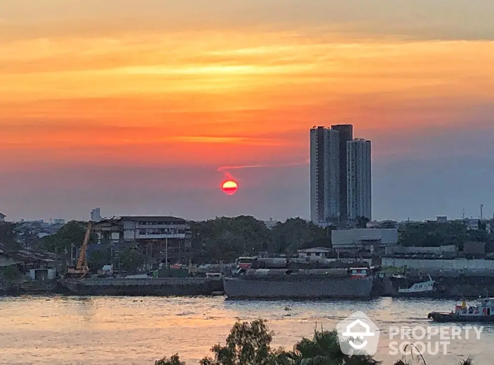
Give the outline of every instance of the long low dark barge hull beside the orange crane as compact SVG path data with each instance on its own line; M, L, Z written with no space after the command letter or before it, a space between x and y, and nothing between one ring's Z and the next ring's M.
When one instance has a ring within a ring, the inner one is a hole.
M75 295L196 296L223 291L217 278L88 278L64 282Z

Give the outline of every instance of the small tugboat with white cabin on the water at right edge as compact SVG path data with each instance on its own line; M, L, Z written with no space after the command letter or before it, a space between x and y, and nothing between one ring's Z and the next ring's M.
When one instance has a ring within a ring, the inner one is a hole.
M427 316L434 322L494 322L494 298L483 299L477 305L467 307L465 300L456 305L454 312L431 312Z

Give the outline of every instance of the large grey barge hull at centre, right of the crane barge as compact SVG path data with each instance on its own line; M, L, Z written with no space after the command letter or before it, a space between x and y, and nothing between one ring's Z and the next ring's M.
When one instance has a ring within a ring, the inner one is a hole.
M223 286L229 299L367 299L373 278L224 278Z

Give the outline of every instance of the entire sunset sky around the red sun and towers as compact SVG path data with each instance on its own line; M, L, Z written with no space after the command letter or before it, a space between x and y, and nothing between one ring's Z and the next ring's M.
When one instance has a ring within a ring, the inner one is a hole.
M491 216L493 13L491 0L2 0L0 211L308 218L309 129L352 123L372 141L374 219L477 217L480 203Z

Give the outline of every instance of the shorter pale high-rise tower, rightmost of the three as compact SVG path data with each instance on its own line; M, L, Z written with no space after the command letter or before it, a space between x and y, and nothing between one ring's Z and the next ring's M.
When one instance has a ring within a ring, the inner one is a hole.
M348 218L372 220L371 141L347 142L347 210Z

